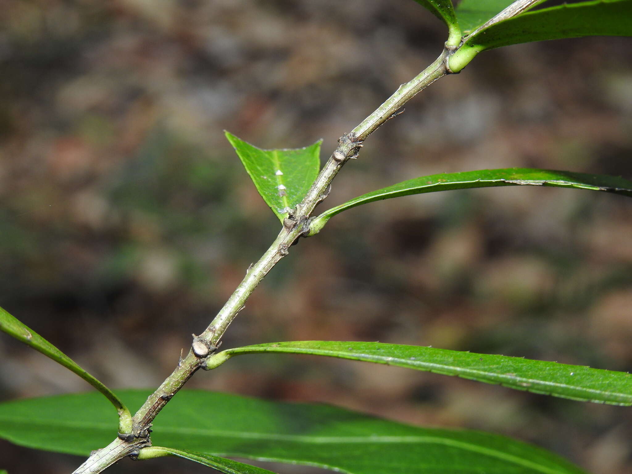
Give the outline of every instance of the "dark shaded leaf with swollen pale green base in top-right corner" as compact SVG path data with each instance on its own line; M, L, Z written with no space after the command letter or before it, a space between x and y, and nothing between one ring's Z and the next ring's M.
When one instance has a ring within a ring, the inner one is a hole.
M530 11L470 35L449 59L458 72L481 51L582 36L632 36L632 0L595 0Z

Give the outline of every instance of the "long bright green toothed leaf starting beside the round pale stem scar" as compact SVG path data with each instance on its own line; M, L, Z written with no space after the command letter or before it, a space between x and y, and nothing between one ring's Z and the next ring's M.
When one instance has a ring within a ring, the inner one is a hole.
M475 354L424 346L340 341L296 341L228 349L210 367L238 354L291 353L338 357L414 368L512 389L579 401L632 405L632 375L520 357Z

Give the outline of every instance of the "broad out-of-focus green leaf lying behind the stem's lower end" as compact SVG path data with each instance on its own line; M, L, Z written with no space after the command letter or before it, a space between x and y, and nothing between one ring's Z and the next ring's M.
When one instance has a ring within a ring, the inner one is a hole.
M130 406L140 406L149 394L119 392ZM0 437L85 456L112 441L109 415L95 394L11 401L0 404ZM179 391L152 428L159 446L348 474L584 473L544 449L499 435L419 428L322 404L205 391Z

